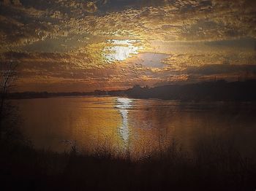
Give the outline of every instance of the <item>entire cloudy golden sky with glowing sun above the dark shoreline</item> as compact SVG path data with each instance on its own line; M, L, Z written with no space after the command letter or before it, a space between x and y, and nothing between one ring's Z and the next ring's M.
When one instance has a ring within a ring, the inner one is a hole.
M16 91L256 78L254 0L1 0Z

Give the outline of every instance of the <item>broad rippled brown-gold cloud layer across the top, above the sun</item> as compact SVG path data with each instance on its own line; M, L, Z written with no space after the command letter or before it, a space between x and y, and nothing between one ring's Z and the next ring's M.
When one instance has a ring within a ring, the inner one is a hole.
M32 43L45 39L45 36L61 36L62 31L69 34L132 37L144 41L209 41L241 36L255 37L254 9L249 1L242 2L233 1L230 7L227 7L227 3L222 1L162 1L160 4L150 1L143 3L143 7L133 6L121 12L108 12L102 15L102 9L107 6L102 1L39 1L37 4L31 3L31 7L28 7L29 4L19 9L9 7L4 17L12 18L24 25L20 31L22 35L15 35L17 37L14 39L17 40L12 47L21 45L24 41L22 39ZM115 3L121 4L120 7L126 7L121 2L108 2L111 5ZM140 3L133 1L131 4ZM150 6L153 4L157 6ZM101 8L97 8L98 6ZM239 9L240 6L244 9ZM42 12L42 9L45 11ZM95 12L99 12L99 15L88 15ZM20 18L17 19L13 15L20 15ZM34 24L36 21L37 25ZM40 33L33 34L31 29ZM8 29L4 34L10 36L13 31Z

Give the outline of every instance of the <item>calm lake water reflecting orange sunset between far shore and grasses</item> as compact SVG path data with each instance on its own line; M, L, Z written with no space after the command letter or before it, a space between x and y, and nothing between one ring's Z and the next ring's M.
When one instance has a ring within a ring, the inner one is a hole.
M182 103L116 97L16 100L23 133L37 149L64 152L76 141L80 150L129 149L147 155L175 139L188 151L202 139L218 137L254 152L255 104Z

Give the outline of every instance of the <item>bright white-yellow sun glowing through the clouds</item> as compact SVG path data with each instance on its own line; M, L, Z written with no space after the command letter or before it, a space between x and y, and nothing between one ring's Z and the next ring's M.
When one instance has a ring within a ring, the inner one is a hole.
M109 44L103 50L104 58L110 63L115 61L124 61L132 55L137 55L139 50L143 49L139 40L132 39L110 39L107 40Z

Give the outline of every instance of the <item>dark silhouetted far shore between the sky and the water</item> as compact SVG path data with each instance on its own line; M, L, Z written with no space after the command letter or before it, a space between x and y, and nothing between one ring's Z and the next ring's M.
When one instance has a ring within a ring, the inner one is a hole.
M256 80L244 82L201 82L188 85L165 85L140 87L127 90L95 90L94 92L22 92L9 93L9 99L53 98L61 96L124 96L129 98L159 98L180 101L256 101Z

